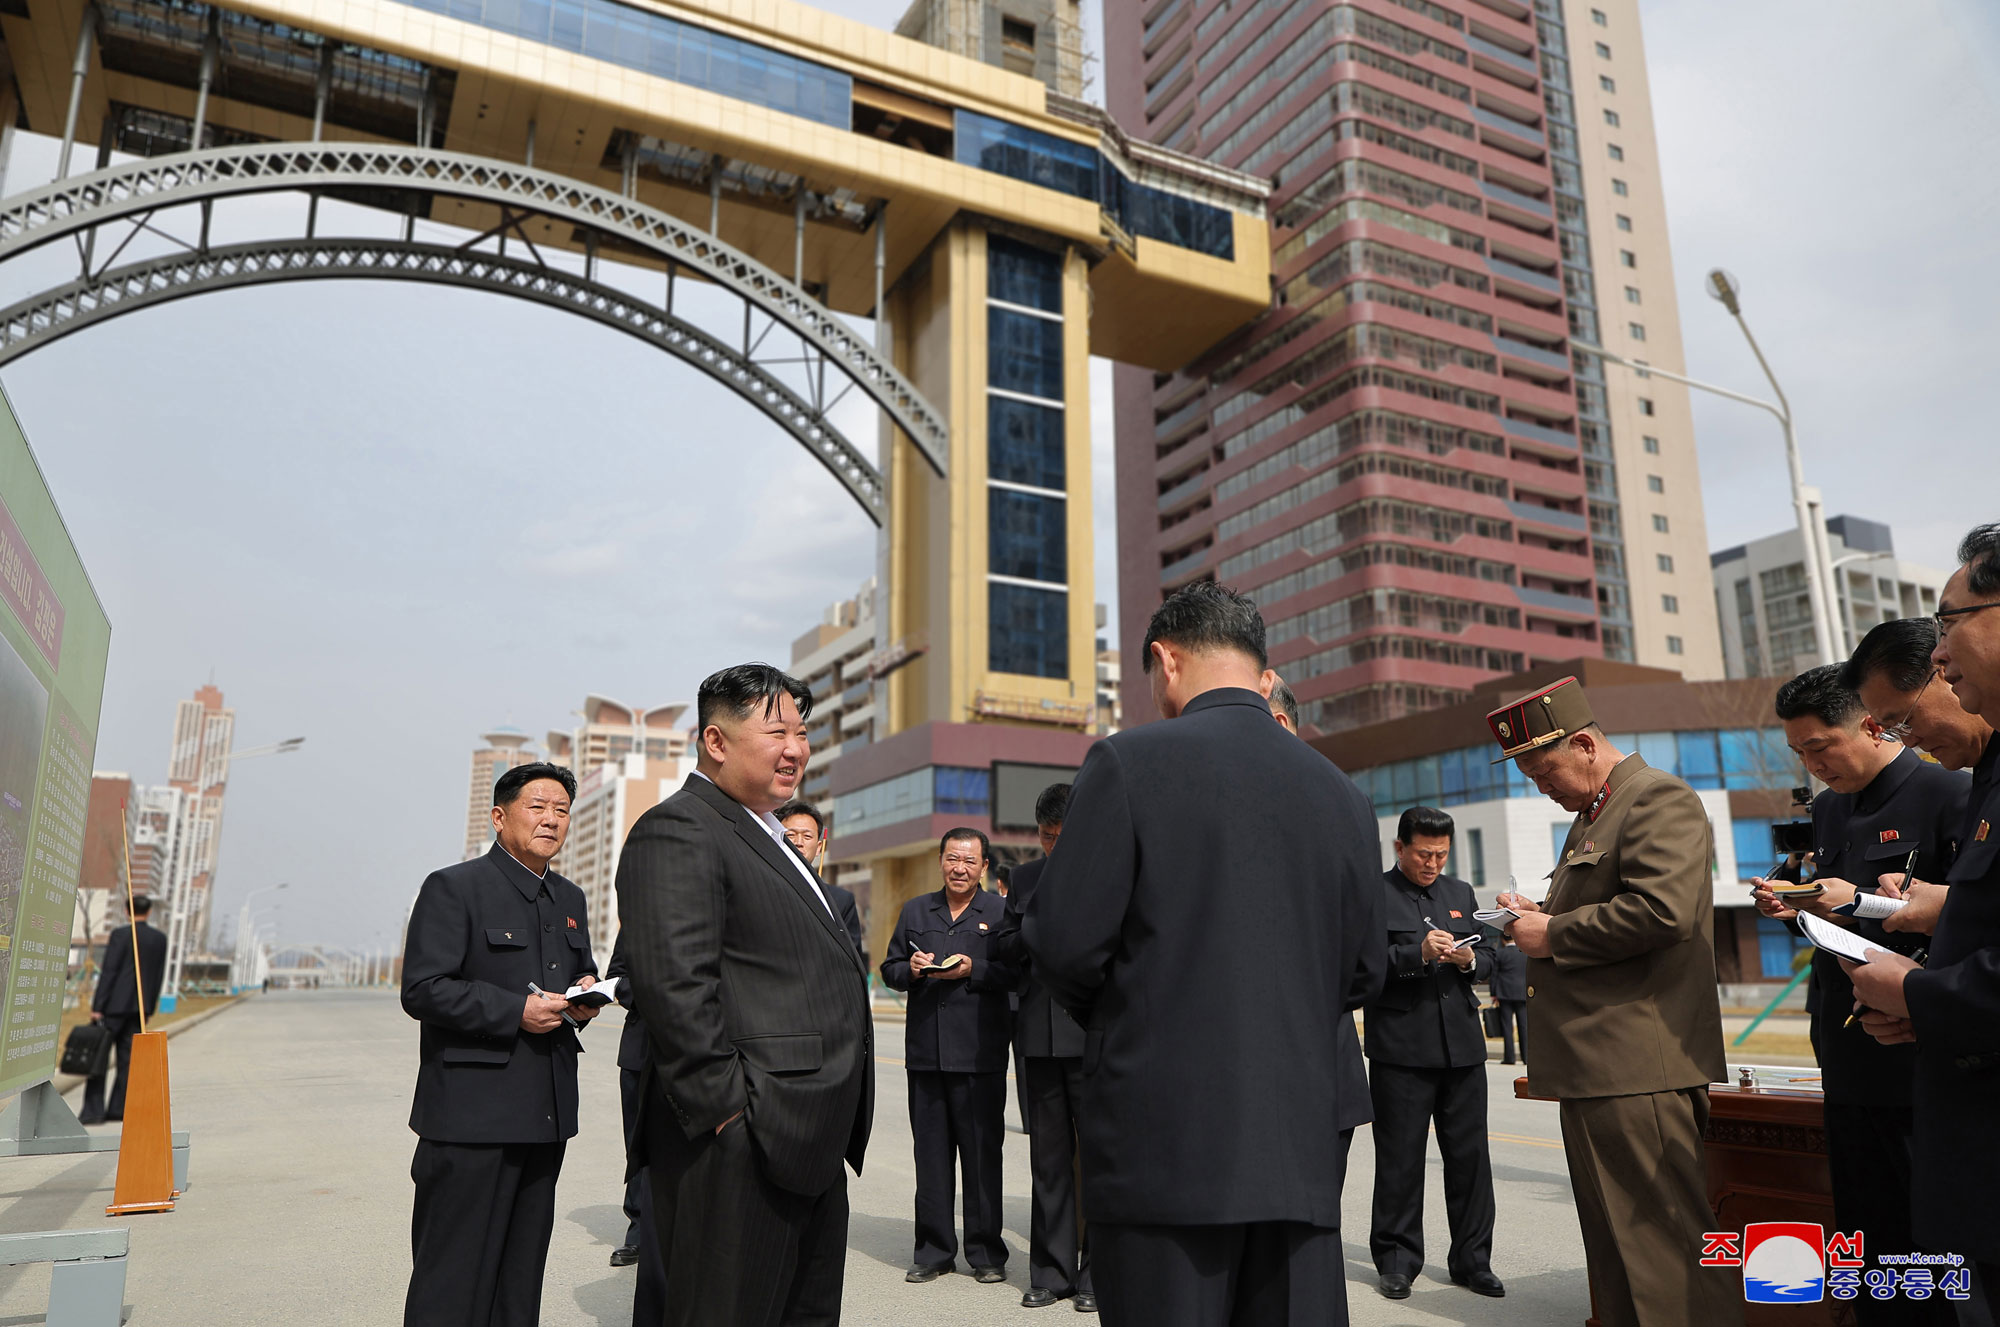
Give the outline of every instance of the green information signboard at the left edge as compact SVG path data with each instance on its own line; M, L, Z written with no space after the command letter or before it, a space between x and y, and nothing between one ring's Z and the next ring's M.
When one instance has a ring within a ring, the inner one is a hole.
M110 640L0 394L0 1093L56 1071Z

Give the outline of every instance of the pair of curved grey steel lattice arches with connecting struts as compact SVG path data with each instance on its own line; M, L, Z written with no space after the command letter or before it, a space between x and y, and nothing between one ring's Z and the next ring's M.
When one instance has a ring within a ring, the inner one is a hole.
M206 210L216 200L272 192L340 196L350 190L406 190L492 204L500 208L502 226L488 236L512 226L526 240L520 218L542 216L650 252L666 264L666 306L552 268L532 244L532 262L524 262L472 250L472 242L454 250L410 238L308 238L228 248L206 242ZM110 268L140 230L158 234L152 226L156 214L188 206L204 210L202 242L188 254ZM96 236L120 226L130 234L110 246L104 264L92 268L100 246L82 246L84 232ZM872 398L930 468L946 474L944 418L832 310L666 212L530 166L394 144L248 144L114 166L0 200L0 262L64 238L76 238L84 254L80 278L0 314L0 364L120 312L206 290L316 276L432 280L578 312L696 364L804 442L878 524L882 478L828 422L828 412L850 390ZM740 344L674 314L676 274L698 278L742 302ZM762 314L762 330L754 326L754 314ZM770 332L780 328L790 336L772 338ZM786 386L772 372L776 366L804 366L804 392ZM828 396L826 370L846 378L848 386Z

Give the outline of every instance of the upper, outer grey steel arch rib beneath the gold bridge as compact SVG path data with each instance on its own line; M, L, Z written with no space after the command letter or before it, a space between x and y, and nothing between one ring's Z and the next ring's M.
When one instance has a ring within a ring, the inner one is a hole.
M180 152L174 156L112 166L86 176L72 176L68 180L58 180L38 190L28 190L0 200L0 262L64 238L80 240L84 232L94 232L116 222L130 222L132 234L138 234L140 228L150 228L148 224L154 214L172 208L206 208L218 200L252 194L340 194L342 190L404 190L482 202L500 208L502 228L508 226L508 218L512 216L544 216L568 222L582 232L606 236L622 242L624 246L654 254L666 262L670 292L674 274L686 272L688 276L742 300L742 348L734 354L734 362L740 366L764 366L756 382L772 380L768 374L770 364L798 362L798 358L780 360L778 356L768 354L760 360L760 350L768 340L768 332L784 328L798 338L798 346L810 360L810 370L820 370L818 376L824 380L824 368L830 366L834 372L848 378L852 388L870 396L888 414L896 428L910 436L918 454L938 476L946 474L948 426L944 424L944 418L882 354L876 352L874 346L870 346L832 310L764 264L748 258L728 244L722 244L712 234L694 230L658 208L648 208L646 204L626 198L624 194L546 170L534 170L532 166L396 144L276 142ZM408 246L410 242L404 244ZM118 250L114 250L112 258L106 260L106 268L116 260L122 248L124 246L120 244ZM206 242L196 250L196 256L204 250ZM546 266L538 266L536 270L552 278L562 276L554 268ZM82 298L84 288L98 288L100 296L96 296L96 300L102 302L102 290L106 290L104 282L108 282L110 276L112 272L104 268L90 272L86 266L80 280L64 290ZM382 272L382 276L408 276L412 280L446 280L450 284L500 288L500 284L492 282L452 280L442 270ZM564 280L570 280L572 284L576 282L576 278ZM210 282L202 288L214 290L228 284L248 282ZM632 302L630 296L618 296L606 288L598 290L616 296L618 300ZM24 302L24 306L46 306L60 294L62 292L48 292ZM186 290L182 294L196 294L196 290ZM522 292L516 290L512 294ZM116 300L118 296L112 298ZM544 302L558 308L578 310L574 300ZM668 306L670 304L672 294L668 296ZM24 306L16 306L16 310ZM764 328L764 334L754 334L752 330L754 312L766 318L768 326ZM668 308L666 314L672 316L672 310ZM96 322L102 316L108 314L98 314L90 322ZM72 322L72 330L82 326L88 326L88 322ZM712 334L702 336L710 346L722 346L720 338ZM40 340L32 340L32 344L40 344ZM26 346L16 354L24 352ZM808 378L812 376L810 370ZM752 378L744 378L744 382L752 382ZM736 382L730 382L730 386L736 386ZM764 406L764 400L758 396L748 392L746 396L750 396L754 404ZM814 396L822 394L814 390ZM798 400L796 394L792 394L792 398ZM816 400L810 408L822 430L828 428L824 414L832 408L832 404L834 402L828 400ZM780 424L784 424L788 432L796 434L786 420L780 418ZM852 446L848 446L846 452L848 456L854 456L854 460L860 460ZM814 448L814 454L826 462L824 452ZM840 474L838 468L836 474ZM872 466L868 468L868 474L874 474ZM846 480L846 476L842 478ZM880 492L880 476L874 476L872 486ZM856 498L860 498L860 494L856 494ZM878 504L864 502L862 506L868 508L872 518L878 518Z

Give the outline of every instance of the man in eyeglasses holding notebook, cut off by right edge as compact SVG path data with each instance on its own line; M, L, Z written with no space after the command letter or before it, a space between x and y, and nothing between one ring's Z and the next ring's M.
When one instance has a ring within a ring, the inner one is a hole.
M1938 596L1932 662L1968 713L2000 721L2000 524L1958 546L1960 568ZM1862 1027L1880 1041L1916 1041L1914 1235L1978 1265L1982 1291L2000 1285L2000 1155L1988 1145L2000 1109L2000 743L1972 773L1958 857L1944 881L1930 955L1844 963Z

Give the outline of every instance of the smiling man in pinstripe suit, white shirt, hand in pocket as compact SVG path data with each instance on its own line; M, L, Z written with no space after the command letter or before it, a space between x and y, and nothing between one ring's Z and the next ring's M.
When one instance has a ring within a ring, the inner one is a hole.
M712 673L694 773L618 861L670 1327L840 1321L842 1159L860 1173L874 1037L854 939L772 815L806 773L810 713L770 664Z

